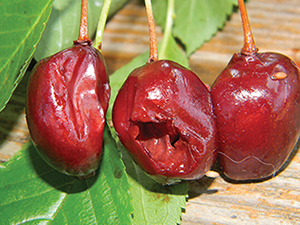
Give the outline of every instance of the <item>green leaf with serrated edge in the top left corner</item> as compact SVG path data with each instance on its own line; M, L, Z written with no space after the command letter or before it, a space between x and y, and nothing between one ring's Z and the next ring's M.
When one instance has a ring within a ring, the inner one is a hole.
M0 2L0 111L22 79L48 21L53 0Z

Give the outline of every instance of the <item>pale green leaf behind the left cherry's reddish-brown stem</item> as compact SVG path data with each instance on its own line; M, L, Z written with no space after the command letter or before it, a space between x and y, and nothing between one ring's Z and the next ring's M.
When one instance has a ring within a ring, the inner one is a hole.
M112 0L109 16L115 14L129 0ZM104 0L88 1L88 25L90 37L96 32L99 16ZM55 0L53 10L42 36L42 39L34 54L34 58L40 61L65 48L73 45L78 39L80 26L81 1Z

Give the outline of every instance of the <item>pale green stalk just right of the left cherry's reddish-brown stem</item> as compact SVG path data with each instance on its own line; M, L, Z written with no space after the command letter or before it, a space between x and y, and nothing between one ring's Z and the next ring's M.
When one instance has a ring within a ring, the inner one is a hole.
M97 27L96 37L95 37L95 43L94 43L94 47L96 49L98 49L99 51L101 50L101 47L102 47L103 33L104 33L105 24L106 24L110 5L111 5L111 0L104 0L101 14L99 17L99 22L98 22L98 27Z

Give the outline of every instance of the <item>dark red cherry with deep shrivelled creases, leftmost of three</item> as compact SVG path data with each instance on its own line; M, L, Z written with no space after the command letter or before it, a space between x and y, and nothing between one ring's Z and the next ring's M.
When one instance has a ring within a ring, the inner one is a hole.
M60 172L88 176L99 166L110 87L104 58L74 45L39 62L27 92L27 123L42 158Z

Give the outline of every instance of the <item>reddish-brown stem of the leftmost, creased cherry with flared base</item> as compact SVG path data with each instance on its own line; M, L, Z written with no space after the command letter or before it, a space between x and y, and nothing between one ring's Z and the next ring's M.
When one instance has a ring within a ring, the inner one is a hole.
M87 21L87 0L81 1L81 17L78 40L74 44L92 45L92 40L89 38L88 21Z

